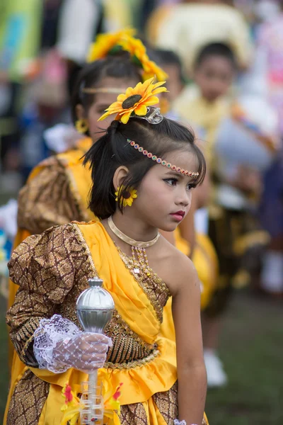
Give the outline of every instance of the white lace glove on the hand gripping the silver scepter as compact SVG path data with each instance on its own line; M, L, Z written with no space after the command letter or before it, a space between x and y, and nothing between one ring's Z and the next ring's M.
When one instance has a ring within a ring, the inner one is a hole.
M68 319L54 314L35 330L33 352L40 369L62 373L75 368L90 373L103 368L112 341L108 336L80 331Z

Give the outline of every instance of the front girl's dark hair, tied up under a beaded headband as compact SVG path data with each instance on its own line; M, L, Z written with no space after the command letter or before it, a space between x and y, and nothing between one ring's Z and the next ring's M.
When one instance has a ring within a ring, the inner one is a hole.
M121 198L127 198L131 188L139 188L146 173L156 164L129 145L127 139L134 140L139 146L162 159L166 159L169 152L189 149L197 159L197 171L200 174L195 183L202 183L206 165L202 152L195 145L195 135L192 131L168 118L163 118L161 123L154 125L140 118L130 118L127 124L114 120L105 135L89 149L84 159L84 164L91 169L93 181L88 206L100 220L110 217L116 208L122 212ZM123 181L123 188L116 203L112 180L116 169L122 165L127 166L129 174Z

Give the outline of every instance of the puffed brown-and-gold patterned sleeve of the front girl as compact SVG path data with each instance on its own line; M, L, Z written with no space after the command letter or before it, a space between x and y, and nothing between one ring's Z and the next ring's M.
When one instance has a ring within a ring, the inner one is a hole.
M23 363L35 367L29 353L33 352L33 333L42 317L62 314L79 326L76 298L88 287L89 259L71 225L65 225L25 239L8 267L11 279L20 285L6 316L11 340Z

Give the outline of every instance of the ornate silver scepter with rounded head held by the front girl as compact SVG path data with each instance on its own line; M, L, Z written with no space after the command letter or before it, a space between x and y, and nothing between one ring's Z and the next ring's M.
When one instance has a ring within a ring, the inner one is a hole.
M107 324L110 322L114 310L114 300L107 290L102 288L103 280L100 278L88 279L90 288L79 295L76 301L76 314L83 330L103 334ZM103 420L103 399L96 394L97 370L90 373L88 378L88 412L83 412L81 424L93 424L97 419ZM86 395L85 393L85 395ZM99 400L99 402L98 402ZM87 416L86 416L87 413Z

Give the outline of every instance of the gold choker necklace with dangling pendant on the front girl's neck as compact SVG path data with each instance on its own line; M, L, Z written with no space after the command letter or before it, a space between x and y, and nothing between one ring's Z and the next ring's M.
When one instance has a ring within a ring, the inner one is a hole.
M156 237L154 239L151 239L151 241L148 242L138 242L134 239L127 236L127 234L122 233L114 224L112 217L108 218L108 226L112 230L112 232L123 242L125 242L128 245L132 246L132 258L135 262L138 262L141 266L144 266L146 268L146 274L149 276L149 261L147 259L146 255L146 248L149 248L149 246L152 246L156 244L160 237L160 233L158 232L156 234ZM139 268L134 268L134 273L139 274Z

